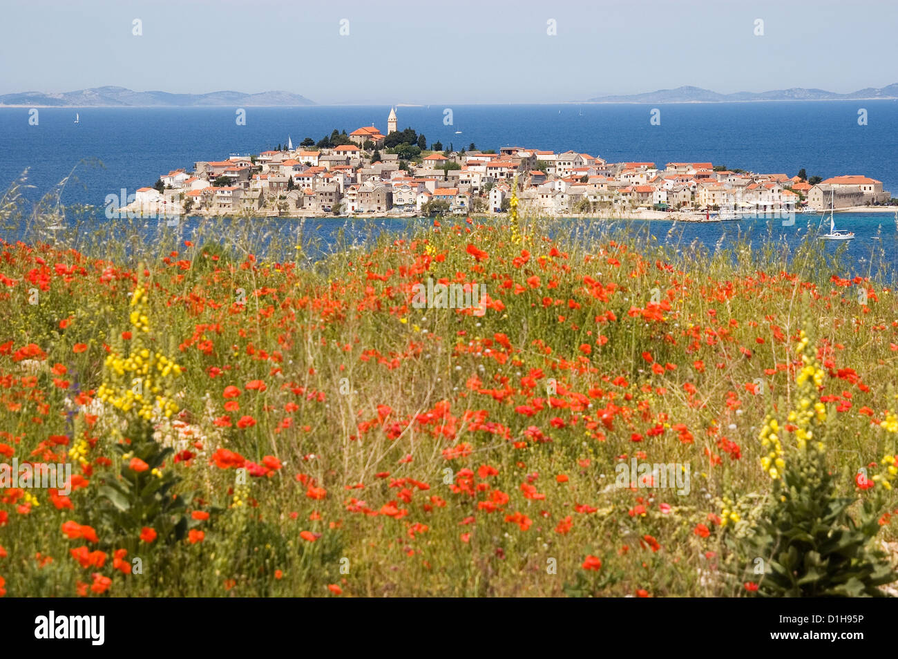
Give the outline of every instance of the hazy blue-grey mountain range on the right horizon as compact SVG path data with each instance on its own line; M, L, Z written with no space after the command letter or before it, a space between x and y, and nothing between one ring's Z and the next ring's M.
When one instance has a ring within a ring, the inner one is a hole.
M898 99L898 83L887 87L867 87L851 93L792 87L771 92L718 93L700 87L659 89L627 96L598 96L591 103L719 103L733 101L849 101L851 99Z

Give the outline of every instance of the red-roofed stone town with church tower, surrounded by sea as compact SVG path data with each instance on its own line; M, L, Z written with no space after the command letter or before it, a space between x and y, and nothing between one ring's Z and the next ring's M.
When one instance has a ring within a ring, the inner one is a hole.
M718 163L609 163L599 155L524 146L427 144L398 129L336 129L314 142L198 161L160 176L120 211L176 215L483 215L503 213L517 186L524 212L722 221L886 207L879 180L858 174L756 173ZM894 209L894 206L893 206Z

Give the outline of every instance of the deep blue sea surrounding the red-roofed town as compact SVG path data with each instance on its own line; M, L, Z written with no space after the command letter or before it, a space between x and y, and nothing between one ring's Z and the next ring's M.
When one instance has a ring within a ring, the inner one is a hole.
M650 112L660 110L660 125ZM858 110L867 110L866 125ZM447 112L446 110L451 110ZM222 160L231 154L258 154L287 138L298 145L315 141L337 128L347 132L374 124L386 128L386 106L313 106L247 108L245 125L235 109L226 108L80 108L38 110L38 124L29 109L0 109L0 187L6 188L28 170L34 186L26 195L35 200L74 170L62 200L66 205L98 206L97 223L105 222L106 195L128 193L153 185L167 171L188 171L199 160ZM75 124L75 112L80 122ZM412 127L439 140L444 148L498 149L506 145L564 151L575 149L609 162L712 162L730 169L781 172L792 176L801 168L808 176L866 174L882 180L898 197L898 102L781 101L749 103L476 105L401 107L399 127ZM448 123L451 116L452 123ZM456 131L459 131L458 133ZM815 215L798 215L797 225ZM891 214L837 214L840 228L850 228L854 259L869 259L882 248L894 262L896 227ZM322 220L327 225L344 220ZM390 220L396 228L406 220ZM710 247L721 238L751 233L763 240L768 232L797 242L803 232L780 227L778 221L691 224L682 240ZM665 223L648 231L664 238ZM6 237L6 236L4 236ZM682 241L681 241L682 242ZM832 249L836 249L833 246ZM863 263L863 261L861 261Z

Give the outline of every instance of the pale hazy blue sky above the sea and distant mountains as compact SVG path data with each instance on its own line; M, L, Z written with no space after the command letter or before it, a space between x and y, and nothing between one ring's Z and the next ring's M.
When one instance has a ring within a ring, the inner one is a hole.
M0 93L552 103L898 83L894 0L28 0L3 15Z

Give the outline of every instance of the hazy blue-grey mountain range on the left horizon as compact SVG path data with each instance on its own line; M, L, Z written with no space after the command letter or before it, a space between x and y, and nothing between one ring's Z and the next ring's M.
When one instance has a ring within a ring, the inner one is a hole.
M260 107L315 105L314 101L290 92L209 92L203 94L135 92L125 87L92 87L75 92L21 92L0 94L0 105L86 107Z

